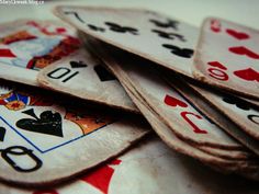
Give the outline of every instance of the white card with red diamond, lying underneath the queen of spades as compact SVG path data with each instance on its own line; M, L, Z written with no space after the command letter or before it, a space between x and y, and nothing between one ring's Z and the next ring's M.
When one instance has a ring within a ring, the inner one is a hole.
M0 190L4 194L157 194L161 189L164 194L258 192L255 183L236 176L222 176L195 160L170 150L157 138L146 140L61 187L19 190L1 185Z

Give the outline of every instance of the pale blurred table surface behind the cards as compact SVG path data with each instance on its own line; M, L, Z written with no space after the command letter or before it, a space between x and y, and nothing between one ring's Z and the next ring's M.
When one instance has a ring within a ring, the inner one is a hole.
M41 5L0 5L0 22L16 19L57 20L57 4L85 4L114 8L144 8L166 13L195 26L206 16L226 20L259 30L258 0L45 0Z

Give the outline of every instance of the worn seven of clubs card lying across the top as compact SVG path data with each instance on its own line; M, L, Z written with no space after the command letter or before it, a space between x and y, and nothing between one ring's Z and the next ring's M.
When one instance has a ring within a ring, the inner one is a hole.
M137 9L60 5L55 13L95 38L192 77L194 26Z

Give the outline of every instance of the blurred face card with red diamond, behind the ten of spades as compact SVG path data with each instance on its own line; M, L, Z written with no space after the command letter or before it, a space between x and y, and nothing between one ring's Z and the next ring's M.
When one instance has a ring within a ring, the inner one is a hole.
M20 20L0 24L0 78L37 85L40 69L80 46L76 31L60 22Z

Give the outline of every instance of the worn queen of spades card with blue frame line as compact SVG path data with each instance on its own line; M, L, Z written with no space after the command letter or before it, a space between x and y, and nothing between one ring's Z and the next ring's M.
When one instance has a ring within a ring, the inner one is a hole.
M68 179L116 156L149 129L134 116L5 84L0 113L0 176L20 184Z

